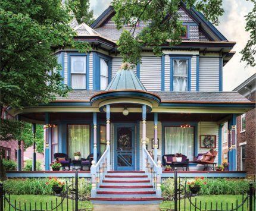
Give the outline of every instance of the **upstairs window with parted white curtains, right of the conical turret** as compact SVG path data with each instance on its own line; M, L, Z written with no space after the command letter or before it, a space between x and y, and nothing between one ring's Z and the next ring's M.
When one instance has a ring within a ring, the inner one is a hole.
M188 90L188 60L173 60L173 91L185 92Z

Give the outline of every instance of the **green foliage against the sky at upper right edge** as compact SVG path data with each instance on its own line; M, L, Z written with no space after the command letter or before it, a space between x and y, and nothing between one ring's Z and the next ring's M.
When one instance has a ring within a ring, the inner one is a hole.
M256 55L256 1L254 2L254 7L252 11L245 15L246 26L245 31L250 33L250 39L247 41L245 48L240 52L242 53L241 61L245 61L246 65L251 65L251 67L255 67L255 55Z

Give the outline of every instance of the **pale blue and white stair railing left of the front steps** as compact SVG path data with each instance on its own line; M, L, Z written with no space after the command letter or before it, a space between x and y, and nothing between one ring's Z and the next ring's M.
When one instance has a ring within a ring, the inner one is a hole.
M102 184L107 172L110 171L110 144L107 144L107 149L95 165L95 161L92 160L92 166L90 167L90 174L92 176L92 197L96 196L96 191L99 189L99 185Z

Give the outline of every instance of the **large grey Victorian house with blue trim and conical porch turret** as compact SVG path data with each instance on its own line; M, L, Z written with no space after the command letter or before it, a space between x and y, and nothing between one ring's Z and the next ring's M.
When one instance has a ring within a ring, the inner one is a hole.
M74 152L79 151L82 158L95 152L95 161L96 153L105 152L102 160L107 161L96 164L101 163L101 169L96 178L92 173L92 182L101 181L105 169L121 171L117 174L126 177L148 168L143 144L154 152L155 162L175 153L192 161L198 153L214 148L218 153L214 162L221 163L224 122L229 122L227 129L232 134L236 116L255 108L238 92L222 89L223 66L234 55L235 42L228 41L201 13L193 8L187 10L181 2L180 20L187 29L182 43L161 46L161 57L155 56L152 49L142 48L141 64L133 70L119 70L122 58L116 43L121 31L115 29L114 14L113 7L107 8L90 27L72 22L77 32L74 39L89 42L92 51L56 51L63 67L63 83L73 89L67 97L57 97L48 105L9 111L21 119L46 125L46 171L57 152L66 153L71 159ZM136 32L146 24L141 21ZM230 171L235 171L235 136L228 136L227 142ZM189 163L189 168L202 171L204 166ZM140 174L143 177L144 173ZM116 176L109 176L117 180ZM161 176L155 173L151 180L152 184L161 182ZM98 188L93 184L95 187ZM93 192L92 196L98 195Z

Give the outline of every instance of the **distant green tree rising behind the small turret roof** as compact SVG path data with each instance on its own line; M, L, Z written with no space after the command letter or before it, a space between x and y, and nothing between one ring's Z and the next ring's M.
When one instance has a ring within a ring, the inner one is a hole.
M90 26L95 20L93 18L93 10L90 10L89 0L74 0L74 15L79 24L86 23Z

